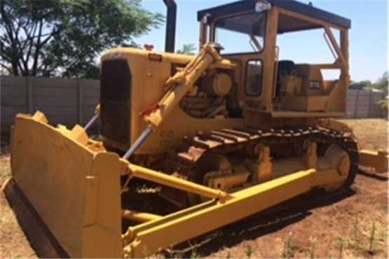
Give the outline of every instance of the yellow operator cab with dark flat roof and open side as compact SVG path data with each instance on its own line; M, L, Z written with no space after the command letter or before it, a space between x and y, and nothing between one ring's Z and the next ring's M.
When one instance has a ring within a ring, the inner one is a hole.
M238 1L200 10L200 47L218 43L221 55L237 64L237 99L245 111L273 117L329 117L346 112L348 29L350 20L298 1ZM278 60L280 34L324 30L332 64L296 64ZM339 41L332 30L339 31ZM340 71L324 80L323 69Z

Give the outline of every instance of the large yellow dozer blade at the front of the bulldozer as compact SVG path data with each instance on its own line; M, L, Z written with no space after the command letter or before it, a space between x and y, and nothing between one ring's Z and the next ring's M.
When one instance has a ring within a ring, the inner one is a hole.
M38 255L121 257L118 155L88 146L79 125L48 125L40 112L16 117L11 145L4 193Z

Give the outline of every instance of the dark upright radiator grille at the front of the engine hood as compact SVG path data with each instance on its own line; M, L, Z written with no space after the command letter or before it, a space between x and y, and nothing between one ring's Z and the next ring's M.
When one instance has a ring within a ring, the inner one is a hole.
M129 144L131 71L128 62L105 60L100 83L102 135L120 144Z

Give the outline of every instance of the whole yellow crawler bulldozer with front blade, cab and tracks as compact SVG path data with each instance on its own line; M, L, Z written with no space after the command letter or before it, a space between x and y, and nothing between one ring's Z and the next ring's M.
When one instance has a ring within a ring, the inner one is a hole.
M198 11L191 56L175 53L177 6L165 4L165 52L105 52L87 125L16 116L4 193L39 256L144 258L313 190L349 188L360 167L388 171L387 153L360 150L335 120L346 115L350 20L293 0L227 3ZM280 34L310 29L324 31L333 63L278 58ZM252 50L228 52L235 34ZM324 80L328 69L339 78Z

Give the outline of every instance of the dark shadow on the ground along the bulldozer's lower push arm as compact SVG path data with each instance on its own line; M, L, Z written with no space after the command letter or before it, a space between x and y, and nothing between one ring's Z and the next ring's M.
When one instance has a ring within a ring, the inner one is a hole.
M192 239L190 245L189 243L179 244L164 255L168 258L172 256L191 258L193 248L196 248L196 253L200 257L207 257L221 248L231 248L242 241L257 239L272 232L277 232L287 225L310 216L312 214L311 209L332 205L352 195L355 195L353 189L342 190L338 193L325 193L324 191L315 190L310 194L301 195L277 207ZM199 246L199 244L202 245Z

